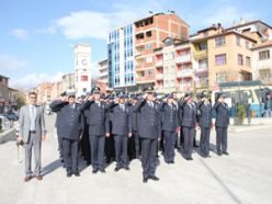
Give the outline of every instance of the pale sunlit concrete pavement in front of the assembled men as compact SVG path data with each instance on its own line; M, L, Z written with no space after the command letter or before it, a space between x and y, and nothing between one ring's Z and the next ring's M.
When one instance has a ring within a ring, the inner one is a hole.
M0 145L1 204L270 204L272 201L272 127L230 133L228 157L212 152L212 158L203 159L194 152L194 160L185 161L177 152L175 165L171 166L160 157L157 169L160 181L144 184L138 160L131 163L131 171L114 172L112 163L105 174L95 175L81 163L81 177L67 179L58 160L54 118L46 116L49 133L42 149L45 173L42 182L24 183L24 165L18 162L15 143Z

